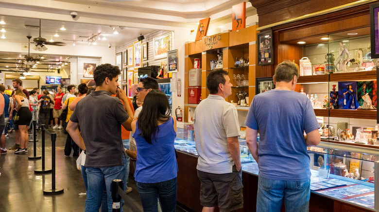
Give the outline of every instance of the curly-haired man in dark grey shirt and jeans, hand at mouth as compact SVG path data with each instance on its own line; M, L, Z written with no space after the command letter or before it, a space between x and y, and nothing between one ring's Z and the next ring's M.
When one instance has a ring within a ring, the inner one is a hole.
M125 91L118 88L120 74L118 66L97 66L93 72L96 90L78 102L66 128L75 143L86 151L86 211L99 211L104 187L108 197L108 211L112 211L111 182L125 177L123 161L126 158L121 139L121 124L131 131L133 112L129 104L122 106L120 101L127 102ZM120 99L112 97L111 94L117 94ZM121 211L122 204L123 200Z

